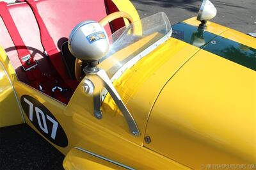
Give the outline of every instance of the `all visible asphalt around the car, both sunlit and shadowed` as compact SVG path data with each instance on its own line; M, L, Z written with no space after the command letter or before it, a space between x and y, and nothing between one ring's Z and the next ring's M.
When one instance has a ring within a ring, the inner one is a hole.
M165 12L172 24L196 16L198 0L131 0L140 17ZM212 0L217 22L244 33L256 33L255 0ZM0 169L63 169L64 155L28 125L0 128Z

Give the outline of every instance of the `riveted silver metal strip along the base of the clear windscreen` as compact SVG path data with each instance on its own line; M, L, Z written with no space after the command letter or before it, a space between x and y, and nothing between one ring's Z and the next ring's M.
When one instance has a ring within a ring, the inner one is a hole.
M152 50L156 49L159 45L161 45L162 43L166 42L168 40L168 38L170 38L172 36L172 27L170 29L170 31L163 36L161 39L157 40L157 42L153 43L152 45L150 45L149 47L147 47L147 49L141 51L137 56L135 56L134 58L132 58L131 60L127 61L127 63L125 63L114 75L113 77L111 77L111 82L115 81L116 79L118 79L124 72L125 70L127 70L128 68L131 68L133 65L135 65L138 61L140 61L140 59L144 58L145 56L147 56L147 54L149 54L150 52L152 52ZM102 102L104 101L104 98L106 97L108 91L106 88L104 88L102 90Z

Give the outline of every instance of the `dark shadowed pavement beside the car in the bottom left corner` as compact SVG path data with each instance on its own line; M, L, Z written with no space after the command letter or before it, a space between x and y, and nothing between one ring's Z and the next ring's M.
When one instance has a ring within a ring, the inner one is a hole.
M28 125L0 128L0 169L63 169L64 155Z

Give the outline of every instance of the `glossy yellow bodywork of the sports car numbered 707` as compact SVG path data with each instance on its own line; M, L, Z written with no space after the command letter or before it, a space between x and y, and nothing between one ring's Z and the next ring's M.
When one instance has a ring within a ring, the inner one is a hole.
M129 1L120 2L115 1L120 11L138 19ZM192 18L182 24L196 27L200 22ZM240 50L251 50L256 58L255 38L213 22L207 22L206 31L214 38L241 44ZM218 43L214 41L205 45ZM127 48L134 50L138 45ZM65 105L18 81L3 48L0 61L0 126L28 123L66 155L65 169L256 164L255 63L248 68L242 61L169 38L113 82L140 129L141 135L134 137L109 94L102 103L103 118L98 120L92 113L92 97L83 92L83 81ZM100 66L108 70L108 61ZM58 120L67 137L64 147L52 143L29 120L20 101L24 95L44 105Z

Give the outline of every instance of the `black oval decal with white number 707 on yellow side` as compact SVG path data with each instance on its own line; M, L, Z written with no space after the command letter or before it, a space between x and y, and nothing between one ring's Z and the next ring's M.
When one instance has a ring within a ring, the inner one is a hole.
M31 123L44 137L58 146L68 146L67 135L63 128L43 104L28 95L23 95L20 103Z

